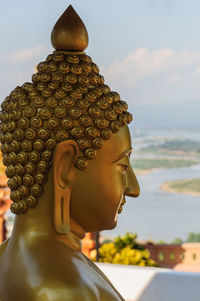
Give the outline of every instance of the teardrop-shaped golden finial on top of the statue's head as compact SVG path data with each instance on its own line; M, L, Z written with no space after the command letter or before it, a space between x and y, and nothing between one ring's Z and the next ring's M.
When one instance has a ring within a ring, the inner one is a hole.
M71 5L54 25L51 44L55 50L84 51L87 48L87 29Z

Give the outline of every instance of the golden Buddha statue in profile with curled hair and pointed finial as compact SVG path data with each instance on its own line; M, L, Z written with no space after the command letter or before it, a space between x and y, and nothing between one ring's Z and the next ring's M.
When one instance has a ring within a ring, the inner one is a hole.
M2 103L0 141L16 215L0 246L0 301L124 300L81 253L87 232L113 229L139 185L126 102L84 53L87 30L69 6L55 51Z

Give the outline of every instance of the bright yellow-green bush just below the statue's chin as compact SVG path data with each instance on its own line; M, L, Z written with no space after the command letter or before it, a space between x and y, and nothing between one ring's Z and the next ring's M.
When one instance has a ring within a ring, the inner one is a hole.
M158 266L150 258L149 250L137 243L137 235L126 233L114 242L104 243L99 249L99 261L115 264Z

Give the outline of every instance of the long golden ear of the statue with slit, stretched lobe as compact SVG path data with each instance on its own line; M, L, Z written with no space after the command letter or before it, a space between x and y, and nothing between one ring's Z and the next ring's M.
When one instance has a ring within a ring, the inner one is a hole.
M71 184L78 155L75 141L60 142L54 153L54 224L58 233L70 231Z

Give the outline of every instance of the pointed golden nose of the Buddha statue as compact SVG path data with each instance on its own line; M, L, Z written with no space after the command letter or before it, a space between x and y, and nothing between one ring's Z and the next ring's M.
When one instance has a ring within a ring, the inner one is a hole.
M140 186L131 166L127 168L125 173L124 194L134 198L140 195Z

